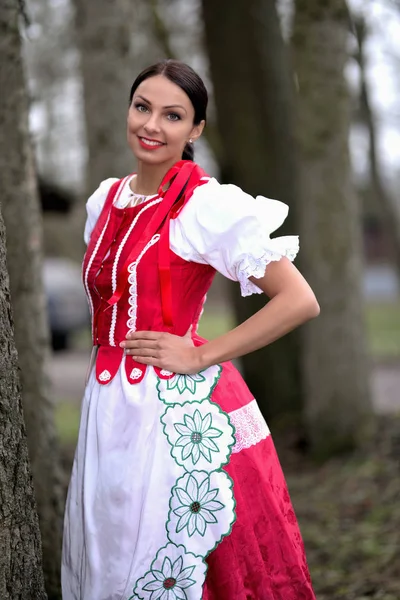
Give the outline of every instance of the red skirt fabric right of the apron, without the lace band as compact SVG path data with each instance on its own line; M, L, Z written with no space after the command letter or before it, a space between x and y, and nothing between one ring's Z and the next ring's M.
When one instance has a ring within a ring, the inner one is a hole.
M225 363L212 400L230 412L249 394L240 374ZM315 600L271 436L232 454L224 470L234 482L236 522L207 558L203 600Z

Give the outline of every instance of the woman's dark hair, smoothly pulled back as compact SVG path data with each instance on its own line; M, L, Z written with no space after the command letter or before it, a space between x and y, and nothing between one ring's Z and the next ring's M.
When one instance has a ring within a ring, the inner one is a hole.
M129 104L132 102L133 95L139 85L145 79L155 77L156 75L163 75L172 81L172 83L178 85L187 94L194 108L193 125L198 125L201 121L206 120L208 93L203 80L192 67L179 60L162 60L139 73L131 87ZM184 160L193 160L193 144L186 144L182 158Z

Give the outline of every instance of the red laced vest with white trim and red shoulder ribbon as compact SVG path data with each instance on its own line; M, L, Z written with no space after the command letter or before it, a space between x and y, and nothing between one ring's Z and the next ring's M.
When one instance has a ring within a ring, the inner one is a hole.
M129 331L168 331L184 335L197 324L215 270L190 263L169 247L169 222L191 197L205 173L180 161L165 176L157 197L117 208L127 178L111 186L83 260L83 281L92 314L93 345L99 346L96 377L109 383ZM165 191L165 188L168 189ZM146 365L127 356L128 381L140 382ZM155 369L161 378L173 374Z

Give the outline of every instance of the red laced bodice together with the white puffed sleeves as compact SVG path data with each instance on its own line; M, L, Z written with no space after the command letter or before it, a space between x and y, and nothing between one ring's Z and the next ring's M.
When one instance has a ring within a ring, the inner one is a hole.
M286 205L266 198L254 200L240 188L221 186L201 172L180 210L147 238L149 222L157 218L167 197L145 198L129 207L129 180L107 180L87 205L89 245L83 279L93 344L99 346L96 374L103 384L120 366L119 343L129 331L184 335L190 327L195 330L216 270L239 281L243 295L259 292L248 278L263 276L271 260L283 255L293 259L298 247L295 236L269 237L286 217ZM140 252L130 261L136 244ZM111 303L110 298L114 298ZM140 382L145 366L131 357L125 363L128 380Z

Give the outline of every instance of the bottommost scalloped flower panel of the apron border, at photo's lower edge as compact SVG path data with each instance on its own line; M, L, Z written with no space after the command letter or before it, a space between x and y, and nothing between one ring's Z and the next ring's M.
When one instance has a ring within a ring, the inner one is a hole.
M129 600L188 600L201 596L207 566L200 556L185 551L183 546L168 544L161 548L148 572L139 579ZM190 592L188 595L186 590Z

